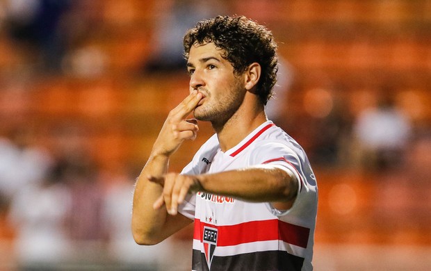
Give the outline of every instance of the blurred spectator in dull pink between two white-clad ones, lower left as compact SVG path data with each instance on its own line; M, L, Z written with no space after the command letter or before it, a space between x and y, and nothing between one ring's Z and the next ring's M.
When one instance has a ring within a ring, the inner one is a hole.
M104 186L90 153L88 126L80 122L64 123L54 129L53 135L57 138L53 152L58 177L70 191L70 208L65 217L67 234L76 244L103 244L106 241L106 225L102 223Z

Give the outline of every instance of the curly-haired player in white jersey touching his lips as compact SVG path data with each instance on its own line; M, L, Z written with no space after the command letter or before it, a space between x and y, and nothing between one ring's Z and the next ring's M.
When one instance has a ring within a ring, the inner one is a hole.
M293 138L267 120L277 45L245 17L215 17L184 38L190 95L170 111L133 197L136 243L153 245L195 222L193 270L312 270L316 179ZM170 156L215 135L181 172Z

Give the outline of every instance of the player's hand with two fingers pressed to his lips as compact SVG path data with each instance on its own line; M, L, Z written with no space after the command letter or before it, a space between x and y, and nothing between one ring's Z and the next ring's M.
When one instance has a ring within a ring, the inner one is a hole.
M197 120L186 118L202 99L202 93L193 90L181 103L170 110L163 127L154 142L152 155L171 156L184 140L194 140L197 136Z

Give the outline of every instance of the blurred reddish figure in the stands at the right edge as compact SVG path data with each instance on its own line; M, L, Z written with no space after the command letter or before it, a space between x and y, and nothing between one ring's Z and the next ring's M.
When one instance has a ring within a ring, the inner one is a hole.
M406 154L404 165L379 174L373 215L394 241L410 238L406 234L409 229L418 233L418 243L430 242L424 232L431 224L431 134L414 138Z

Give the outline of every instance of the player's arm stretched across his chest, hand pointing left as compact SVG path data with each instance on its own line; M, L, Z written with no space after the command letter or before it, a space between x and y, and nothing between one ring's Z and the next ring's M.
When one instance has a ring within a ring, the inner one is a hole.
M170 173L152 179L164 183L154 207L165 205L170 215L177 214L178 204L188 192L202 191L236 197L250 202L271 202L279 210L288 210L295 202L299 183L295 175L280 165L258 165L242 170L213 174L181 175Z

